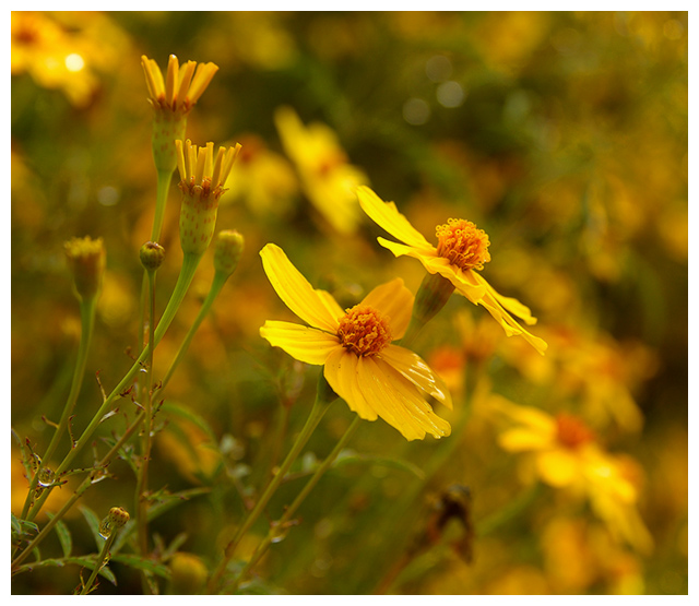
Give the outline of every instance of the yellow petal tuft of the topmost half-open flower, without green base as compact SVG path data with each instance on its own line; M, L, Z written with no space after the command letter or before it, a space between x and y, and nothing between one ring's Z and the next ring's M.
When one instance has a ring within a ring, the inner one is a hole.
M180 68L175 55L170 55L165 79L153 59L144 55L141 57L141 64L145 72L145 82L153 107L182 114L187 114L199 100L218 71L218 66L215 63L199 63L198 68L197 61L187 61Z

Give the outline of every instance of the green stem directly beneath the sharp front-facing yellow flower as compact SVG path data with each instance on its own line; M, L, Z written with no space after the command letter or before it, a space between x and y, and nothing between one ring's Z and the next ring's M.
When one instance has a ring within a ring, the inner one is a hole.
M254 524L257 519L260 516L260 514L266 507L266 503L272 498L272 496L279 488L280 484L282 484L284 476L286 476L286 473L288 472L289 467L300 454L301 450L306 445L306 442L308 442L308 439L311 437L316 427L318 427L318 424L320 423L320 419L323 417L323 415L328 411L329 405L332 402L334 402L336 397L337 395L333 393L332 390L328 387L325 379L321 372L318 381L318 393L316 395L316 401L313 402L313 407L311 408L310 414L306 419L306 424L304 425L304 428L301 429L300 433L296 438L296 441L294 442L294 445L292 447L292 450L289 451L289 453L286 455L286 459L282 463L282 466L279 468L279 471L276 472L276 474L274 475L274 477L272 478L268 487L264 489L264 492L262 492L262 496L258 499L258 502L256 503L252 511L248 513L245 522L238 528L238 532L234 536L233 540L230 540L230 543L228 543L228 545L226 546L226 549L224 551L224 557L222 558L221 562L218 563L216 570L212 574L211 580L209 582L209 593L214 593L214 591L217 590L218 583L221 581L221 577L226 570L226 567L228 566L230 558L233 558L233 555L235 552L236 547L238 546L238 543L240 543L240 539L246 535L246 533L250 530L252 524Z

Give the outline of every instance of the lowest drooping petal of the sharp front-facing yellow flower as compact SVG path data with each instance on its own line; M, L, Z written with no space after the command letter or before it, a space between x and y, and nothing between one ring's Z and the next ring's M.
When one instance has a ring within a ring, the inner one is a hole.
M407 440L425 433L441 438L451 426L438 417L419 391L386 361L367 356L357 364L358 381L369 405Z

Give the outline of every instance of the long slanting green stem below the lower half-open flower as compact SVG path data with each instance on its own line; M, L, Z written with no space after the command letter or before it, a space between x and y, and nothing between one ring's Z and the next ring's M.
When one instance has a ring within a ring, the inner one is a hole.
M73 459L75 459L78 453L87 443L90 443L90 440L93 433L95 432L95 430L97 429L97 426L102 423L104 415L111 408L111 405L114 404L115 400L117 400L117 397L119 397L121 393L131 384L133 377L137 375L137 372L141 368L141 365L143 364L143 361L150 355L151 348L157 346L157 344L161 342L161 340L163 338L163 335L165 334L165 331L169 328L173 319L175 318L175 314L177 313L177 310L179 309L180 304L182 302L182 299L185 298L185 294L187 293L187 289L189 288L189 285L191 284L192 278L194 277L194 272L197 271L197 266L199 265L200 260L201 260L200 256L191 256L191 254L185 256L185 259L182 260L182 266L180 269L179 277L177 280L177 284L175 285L175 289L173 290L170 300L167 304L165 311L163 312L163 317L161 318L161 321L158 322L157 328L155 329L153 343L149 343L145 346L145 348L143 349L143 352L141 352L141 355L135 360L131 369L126 373L123 379L121 379L121 381L114 389L114 391L105 399L104 403L102 404L102 406L99 407L99 409L97 411L93 419L90 421L90 425L85 428L82 436L75 442L74 447L66 455L66 459L63 459L63 462L56 470L56 475L68 470L68 467L73 462ZM34 520L36 514L42 509L42 506L48 498L50 490L51 488L47 488L44 490L44 492L42 494L42 497L37 499L34 507L29 510L28 516L26 518L27 520Z

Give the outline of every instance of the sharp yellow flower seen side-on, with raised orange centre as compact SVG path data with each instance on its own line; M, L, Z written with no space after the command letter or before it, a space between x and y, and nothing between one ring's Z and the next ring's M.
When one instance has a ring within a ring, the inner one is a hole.
M485 307L505 329L508 336L524 337L540 354L546 350L546 343L523 329L512 316L526 324L535 324L530 309L517 299L503 297L478 273L490 261L487 234L465 219L450 218L437 227L437 247L415 229L402 215L393 202L383 202L366 186L357 188L357 197L364 212L389 234L401 240L394 242L378 238L395 257L403 254L420 261L434 276L443 280L437 289L450 294L454 289L475 305ZM443 298L443 302L446 299Z

